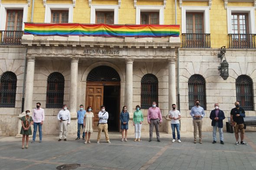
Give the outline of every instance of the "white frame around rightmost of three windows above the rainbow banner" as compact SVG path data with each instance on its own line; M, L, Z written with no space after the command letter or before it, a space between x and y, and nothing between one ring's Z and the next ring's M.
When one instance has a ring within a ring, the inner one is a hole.
M164 24L164 6L137 5L136 25L141 24L141 12L159 12L159 25Z

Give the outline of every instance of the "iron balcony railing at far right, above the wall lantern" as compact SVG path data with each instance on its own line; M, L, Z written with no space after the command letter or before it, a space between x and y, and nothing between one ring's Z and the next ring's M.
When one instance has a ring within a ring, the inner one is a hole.
M229 48L255 48L256 34L229 34Z

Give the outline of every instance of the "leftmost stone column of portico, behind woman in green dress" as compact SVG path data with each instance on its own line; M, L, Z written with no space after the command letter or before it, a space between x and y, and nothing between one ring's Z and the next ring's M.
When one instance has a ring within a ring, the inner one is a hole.
M30 110L30 113L32 113L34 72L35 57L27 57L24 111Z

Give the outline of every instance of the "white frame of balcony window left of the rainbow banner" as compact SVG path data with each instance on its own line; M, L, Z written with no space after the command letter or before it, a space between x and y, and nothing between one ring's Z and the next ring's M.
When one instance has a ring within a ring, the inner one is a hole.
M6 28L6 17L7 17L7 10L8 9L23 9L23 23L22 23L22 31L24 31L24 22L27 22L27 16L28 16L28 4L7 4L2 3L0 6L0 30L5 30Z

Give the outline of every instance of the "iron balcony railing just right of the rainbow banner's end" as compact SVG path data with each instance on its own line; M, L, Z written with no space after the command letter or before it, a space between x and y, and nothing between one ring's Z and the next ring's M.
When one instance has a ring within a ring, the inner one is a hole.
M210 48L210 34L182 34L183 48Z

